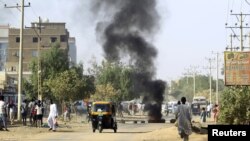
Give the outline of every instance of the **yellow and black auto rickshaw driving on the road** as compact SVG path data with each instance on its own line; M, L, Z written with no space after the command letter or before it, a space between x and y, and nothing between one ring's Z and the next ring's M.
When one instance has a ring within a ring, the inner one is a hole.
M103 129L113 129L116 133L116 110L115 104L107 101L96 101L92 103L91 108L91 121L93 132L99 130L99 133Z

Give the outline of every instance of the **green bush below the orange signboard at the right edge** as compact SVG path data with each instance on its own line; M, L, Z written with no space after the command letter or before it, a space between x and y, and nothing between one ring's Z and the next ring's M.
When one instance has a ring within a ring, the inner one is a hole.
M229 124L250 121L250 89L248 86L231 86L223 92L219 120Z

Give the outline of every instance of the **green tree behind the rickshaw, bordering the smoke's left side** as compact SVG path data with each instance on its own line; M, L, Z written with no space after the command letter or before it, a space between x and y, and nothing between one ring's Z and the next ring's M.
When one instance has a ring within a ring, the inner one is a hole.
M92 63L91 72L96 78L96 85L111 85L116 92L116 100L132 99L132 75L135 71L121 63L103 61L101 65Z

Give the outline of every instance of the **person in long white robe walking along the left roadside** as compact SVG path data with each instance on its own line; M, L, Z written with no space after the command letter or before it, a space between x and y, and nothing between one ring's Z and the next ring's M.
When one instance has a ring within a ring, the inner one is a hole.
M49 116L48 116L48 125L49 125L49 131L56 131L56 122L57 122L57 107L56 104L53 103L53 100L50 100L50 108L49 108Z

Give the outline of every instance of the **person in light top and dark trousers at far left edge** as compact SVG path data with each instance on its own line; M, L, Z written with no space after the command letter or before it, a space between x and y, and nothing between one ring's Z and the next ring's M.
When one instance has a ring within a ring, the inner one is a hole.
M4 97L0 96L0 122L3 123L3 127L5 128L5 131L9 131L7 128L7 106L4 102ZM2 128L2 127L0 127Z

